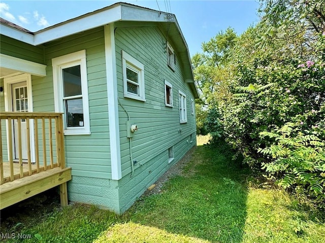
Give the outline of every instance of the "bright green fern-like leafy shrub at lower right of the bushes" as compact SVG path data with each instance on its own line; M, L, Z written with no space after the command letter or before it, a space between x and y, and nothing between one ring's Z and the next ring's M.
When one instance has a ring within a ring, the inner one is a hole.
M274 143L258 151L273 158L262 163L269 178L278 178L280 174L279 186L308 196L325 209L325 141L318 138L319 132L287 123L272 132L259 133L261 138L272 138Z

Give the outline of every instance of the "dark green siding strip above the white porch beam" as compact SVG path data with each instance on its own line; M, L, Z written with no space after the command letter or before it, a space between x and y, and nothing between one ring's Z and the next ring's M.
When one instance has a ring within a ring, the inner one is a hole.
M44 63L43 46L32 46L5 35L0 35L0 53L31 62Z

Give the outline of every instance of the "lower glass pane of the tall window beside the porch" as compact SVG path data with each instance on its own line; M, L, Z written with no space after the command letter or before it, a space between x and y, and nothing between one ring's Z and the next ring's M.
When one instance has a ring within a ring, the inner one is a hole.
M66 100L67 127L83 127L82 98Z

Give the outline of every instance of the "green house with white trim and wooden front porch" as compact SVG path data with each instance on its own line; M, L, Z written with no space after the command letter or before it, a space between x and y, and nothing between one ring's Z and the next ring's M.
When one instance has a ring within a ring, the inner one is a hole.
M117 3L37 32L0 27L0 111L29 114L2 117L4 165L55 165L60 127L42 114L61 113L69 200L122 213L196 145L199 97L175 15Z

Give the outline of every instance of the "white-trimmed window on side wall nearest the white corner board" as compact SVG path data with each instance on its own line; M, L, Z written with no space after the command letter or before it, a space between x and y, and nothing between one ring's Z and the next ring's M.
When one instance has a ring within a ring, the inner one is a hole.
M122 51L124 97L146 101L144 89L144 65Z

